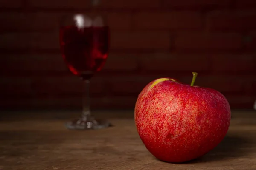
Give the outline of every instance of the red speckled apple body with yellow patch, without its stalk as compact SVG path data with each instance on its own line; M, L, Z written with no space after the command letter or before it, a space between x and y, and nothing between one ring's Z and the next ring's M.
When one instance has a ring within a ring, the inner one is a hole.
M139 94L134 119L153 156L182 163L203 156L224 139L231 111L227 99L214 89L160 78Z

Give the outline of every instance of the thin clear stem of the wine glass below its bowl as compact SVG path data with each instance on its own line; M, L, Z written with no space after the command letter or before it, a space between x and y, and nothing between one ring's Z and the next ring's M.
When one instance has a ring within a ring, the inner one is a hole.
M84 80L82 119L90 119L90 80Z

